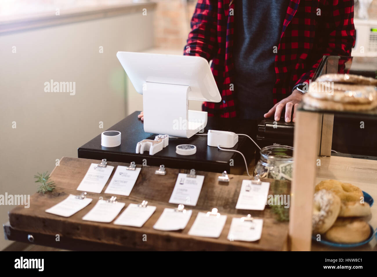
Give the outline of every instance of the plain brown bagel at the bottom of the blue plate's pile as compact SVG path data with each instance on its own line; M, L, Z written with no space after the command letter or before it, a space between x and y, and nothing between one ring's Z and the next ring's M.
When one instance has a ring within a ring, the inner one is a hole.
M325 238L332 242L351 244L368 239L370 234L369 224L362 219L338 218L325 233Z

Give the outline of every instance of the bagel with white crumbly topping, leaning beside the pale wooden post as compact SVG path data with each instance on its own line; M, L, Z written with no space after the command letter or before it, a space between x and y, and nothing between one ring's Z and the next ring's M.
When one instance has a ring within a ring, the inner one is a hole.
M340 198L329 190L314 193L312 225L314 234L323 234L336 221L340 211Z

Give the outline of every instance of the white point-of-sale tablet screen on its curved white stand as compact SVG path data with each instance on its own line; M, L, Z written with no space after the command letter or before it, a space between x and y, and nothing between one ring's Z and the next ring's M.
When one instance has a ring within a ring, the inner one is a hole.
M189 138L204 129L207 112L189 110L189 100L221 101L206 59L133 52L116 56L143 94L145 132Z

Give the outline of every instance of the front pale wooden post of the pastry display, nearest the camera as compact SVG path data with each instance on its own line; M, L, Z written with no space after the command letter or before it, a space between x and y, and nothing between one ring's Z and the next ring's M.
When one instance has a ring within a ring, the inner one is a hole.
M290 196L289 245L291 251L310 251L311 247L311 218L321 125L322 114L297 111Z

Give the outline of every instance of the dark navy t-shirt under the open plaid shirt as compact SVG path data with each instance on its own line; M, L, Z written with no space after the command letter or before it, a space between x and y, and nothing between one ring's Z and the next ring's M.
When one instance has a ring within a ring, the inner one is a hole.
M290 0L235 0L234 95L241 119L261 119L273 107L274 46Z

